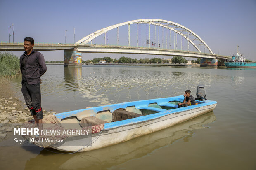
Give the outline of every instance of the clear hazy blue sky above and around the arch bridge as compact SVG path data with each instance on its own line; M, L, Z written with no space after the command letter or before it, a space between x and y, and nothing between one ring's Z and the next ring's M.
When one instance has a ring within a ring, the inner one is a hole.
M247 59L256 61L255 18L256 0L0 0L0 41L9 41L8 27L12 24L14 42L23 42L24 37L33 37L35 42L65 43L65 30L68 30L66 42L73 43L73 28L76 42L114 24L135 19L164 19L192 30L215 54L230 56L236 53L236 46L239 45L239 51ZM120 28L119 37L120 40L123 38L121 42L126 42L128 29L123 27L123 30ZM111 36L116 40L114 34L109 33L109 40ZM137 37L137 28L132 36ZM11 36L11 42L12 39ZM102 40L104 43L104 38ZM98 43L102 43L102 40L96 39ZM23 52L13 51L17 56ZM64 50L40 52L45 56L45 61L64 60ZM104 56L137 59L155 57L83 53L82 59Z

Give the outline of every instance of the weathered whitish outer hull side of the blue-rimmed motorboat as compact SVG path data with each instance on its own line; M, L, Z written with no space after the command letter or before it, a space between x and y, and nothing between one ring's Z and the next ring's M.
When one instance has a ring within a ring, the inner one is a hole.
M156 117L154 119L149 119L145 121L129 123L125 126L104 128L101 133L92 134L93 142L90 146L85 146L86 144L88 144L88 142L86 142L88 141L88 139L84 141L83 139L80 139L77 141L73 140L73 142L76 142L76 144L74 145L77 145L77 143L81 143L81 146L72 146L71 144L71 146L57 146L56 144L53 144L50 145L50 147L60 151L69 152L82 152L100 149L102 147L125 142L135 137L140 137L142 135L146 135L174 126L183 121L193 119L197 116L213 111L216 105L217 103L196 108L191 107L191 109L186 109L185 111L181 110L180 112L170 112L169 114L167 113L164 116Z

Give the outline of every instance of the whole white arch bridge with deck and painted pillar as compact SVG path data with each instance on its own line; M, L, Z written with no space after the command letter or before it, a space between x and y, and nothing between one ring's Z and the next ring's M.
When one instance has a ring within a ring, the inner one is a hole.
M8 46L7 43L6 47L2 44L0 47L0 50L24 50L23 44ZM209 60L230 58L214 54L192 30L163 19L127 21L97 30L74 44L35 44L34 49L64 49L65 66L81 66L81 53L150 54Z

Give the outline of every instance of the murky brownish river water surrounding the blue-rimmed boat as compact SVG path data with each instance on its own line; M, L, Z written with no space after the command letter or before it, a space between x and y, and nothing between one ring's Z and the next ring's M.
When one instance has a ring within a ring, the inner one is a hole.
M183 95L187 89L195 96L198 84L204 84L206 98L218 104L213 112L190 121L95 151L63 155L39 147L0 147L4 169L256 169L256 69L124 65L47 65L47 69L41 77L42 107L47 111L165 98ZM22 98L21 77L12 82Z

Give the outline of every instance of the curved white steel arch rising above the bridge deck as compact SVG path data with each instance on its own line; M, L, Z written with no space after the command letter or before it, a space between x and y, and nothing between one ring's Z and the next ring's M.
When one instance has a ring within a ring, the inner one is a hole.
M210 51L211 54L213 54L213 52L211 51L210 47L204 42L204 40L202 40L196 33L194 33L192 30L186 28L185 26L182 26L178 23L174 23L172 21L167 21L167 20L163 20L163 19L137 19L137 20L133 20L133 21L127 21L127 22L123 22L123 23L119 23L116 25L112 25L106 28L103 28L101 30L97 30L94 33L91 33L90 35L87 35L86 37L83 37L81 40L79 40L78 42L76 42L76 44L87 44L88 42L92 41L94 38L106 33L109 30L113 30L114 28L118 28L120 26L124 26L124 25L128 25L128 24L136 24L136 23L142 23L142 24L152 24L152 25L156 25L156 26L161 26L167 29L170 29L172 31L174 31L175 33L178 33L179 35L181 35L182 37L184 37L186 40L188 40L200 53L201 50L198 48L198 46L200 44L204 44L204 46ZM164 24L166 23L166 24ZM171 27L171 26L174 26ZM180 30L176 30L176 28L181 28L183 31L187 31L188 34L185 35L182 32L180 32ZM194 43L195 39L190 39L189 36L194 36L199 40L199 45L196 45Z

